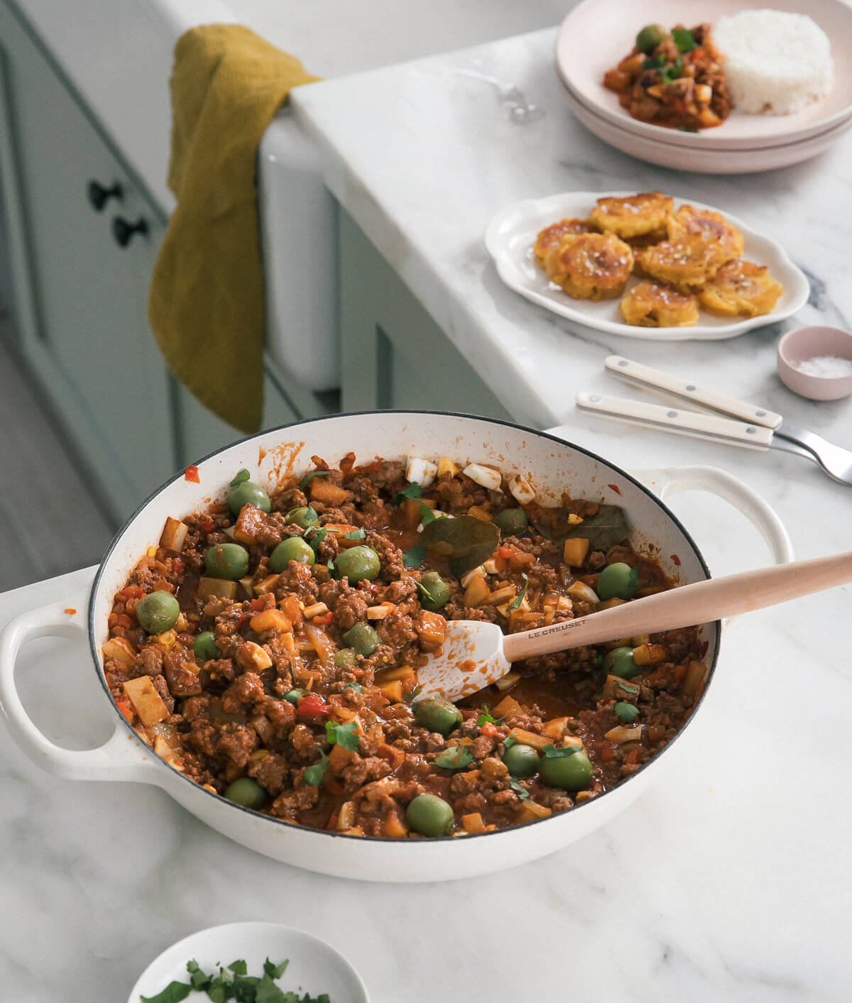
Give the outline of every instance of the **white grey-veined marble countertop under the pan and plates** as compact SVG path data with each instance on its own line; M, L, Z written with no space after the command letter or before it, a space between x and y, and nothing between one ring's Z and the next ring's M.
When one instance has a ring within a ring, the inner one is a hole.
M852 293L839 207L849 199L852 137L771 175L659 171L609 149L562 108L553 38L538 32L305 88L298 114L332 192L520 420L563 424L567 437L628 468L725 467L772 501L800 557L847 549L852 493L807 461L622 428L573 408L581 387L630 395L603 376L603 357L617 352L852 446L848 401L810 403L779 382L777 326L714 344L595 334L504 289L482 233L517 199L661 188L784 239L812 276L799 321L843 323ZM521 87L543 116L513 122L495 85L472 72ZM714 574L769 560L724 503L688 494L670 504ZM0 596L0 625L73 595L89 574ZM470 881L359 884L275 864L161 790L41 772L0 726L3 998L122 1003L174 941L219 923L275 920L341 950L373 1003L841 1003L852 901L849 595L844 587L729 624L714 686L661 784L574 846ZM81 646L33 642L18 680L57 741L80 748L108 733L112 711Z

